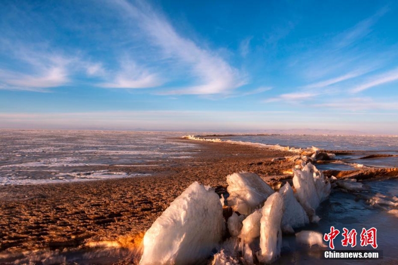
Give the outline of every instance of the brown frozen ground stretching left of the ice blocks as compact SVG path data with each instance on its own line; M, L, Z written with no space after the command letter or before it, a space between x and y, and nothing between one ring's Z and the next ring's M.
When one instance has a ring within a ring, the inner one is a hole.
M188 141L188 140L176 140ZM0 187L0 256L37 249L79 248L97 241L142 237L192 182L226 188L226 176L254 172L270 179L294 164L271 162L289 152L245 145L195 142L189 159L142 167L150 177ZM90 167L136 172L136 167ZM87 170L87 168L86 168ZM137 236L138 235L138 236Z

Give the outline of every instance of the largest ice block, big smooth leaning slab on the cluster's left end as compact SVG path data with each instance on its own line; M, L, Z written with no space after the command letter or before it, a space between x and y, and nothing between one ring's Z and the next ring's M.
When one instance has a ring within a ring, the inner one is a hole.
M145 233L140 264L198 263L219 243L222 227L218 195L194 182Z

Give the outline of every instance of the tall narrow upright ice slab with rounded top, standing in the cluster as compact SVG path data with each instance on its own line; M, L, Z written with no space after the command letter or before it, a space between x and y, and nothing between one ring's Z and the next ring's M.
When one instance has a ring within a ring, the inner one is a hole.
M260 252L257 255L261 263L272 263L281 255L283 216L283 198L278 192L268 197L262 208L260 220Z

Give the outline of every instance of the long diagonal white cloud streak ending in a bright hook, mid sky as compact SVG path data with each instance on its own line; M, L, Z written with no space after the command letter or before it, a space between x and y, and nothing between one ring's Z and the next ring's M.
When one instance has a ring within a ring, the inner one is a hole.
M112 2L114 3L114 2ZM194 41L181 36L159 12L143 2L116 2L127 19L140 27L150 43L161 49L165 57L191 69L196 85L172 88L165 94L225 93L247 83L245 75L229 65L216 52L201 48Z

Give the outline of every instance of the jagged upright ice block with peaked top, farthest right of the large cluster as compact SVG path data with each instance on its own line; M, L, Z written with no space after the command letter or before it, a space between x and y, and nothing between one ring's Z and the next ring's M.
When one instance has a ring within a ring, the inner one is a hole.
M311 163L302 170L294 169L293 184L297 191L298 202L308 214L311 222L319 221L315 209L330 194L330 182Z

